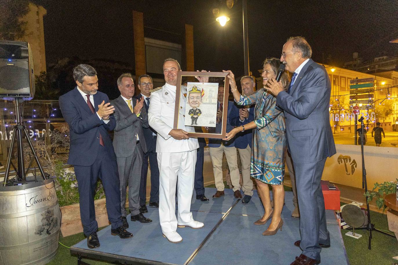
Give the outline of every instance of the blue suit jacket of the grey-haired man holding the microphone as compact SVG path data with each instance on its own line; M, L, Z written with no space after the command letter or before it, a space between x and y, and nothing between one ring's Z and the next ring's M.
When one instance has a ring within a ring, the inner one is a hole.
M278 94L285 112L289 151L295 163L313 163L336 154L329 123L330 79L323 66L309 60L289 93Z

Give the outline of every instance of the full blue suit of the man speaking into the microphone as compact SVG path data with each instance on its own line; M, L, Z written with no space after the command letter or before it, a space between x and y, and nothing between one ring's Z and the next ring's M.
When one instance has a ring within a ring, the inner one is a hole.
M312 259L320 259L319 244L330 244L320 186L326 158L336 154L329 124L330 90L325 68L309 59L289 93L280 92L276 101L285 112L287 142L296 174L300 248Z

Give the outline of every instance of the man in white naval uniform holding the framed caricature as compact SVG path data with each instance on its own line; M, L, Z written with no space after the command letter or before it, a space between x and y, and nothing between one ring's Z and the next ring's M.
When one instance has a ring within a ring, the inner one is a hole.
M195 128L184 126L186 91L181 87L178 129L173 129L176 101L177 72L181 71L174 59L166 59L163 74L166 83L152 92L148 110L149 125L158 133L156 153L159 166L159 219L165 238L172 243L182 241L178 227L202 228L202 222L194 221L191 213L191 199L196 165L196 138L189 138L188 132ZM185 95L184 95L185 93ZM177 179L178 176L178 179ZM178 181L178 213L176 217L176 184Z

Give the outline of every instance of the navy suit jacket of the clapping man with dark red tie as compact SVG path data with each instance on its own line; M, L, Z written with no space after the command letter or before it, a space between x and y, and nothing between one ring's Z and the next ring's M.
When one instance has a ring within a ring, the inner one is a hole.
M69 125L69 158L68 164L91 166L97 158L100 148L100 133L109 159L116 160L109 131L116 126L115 117L109 116L105 124L98 118L98 105L109 102L106 94L97 91L94 95L95 112L92 113L82 94L75 87L73 90L59 97L59 107L62 116Z

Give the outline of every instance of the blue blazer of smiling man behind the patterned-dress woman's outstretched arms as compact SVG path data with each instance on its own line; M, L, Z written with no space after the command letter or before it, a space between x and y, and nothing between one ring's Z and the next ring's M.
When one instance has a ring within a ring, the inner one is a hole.
M254 120L254 104L250 107L249 118L245 118L243 122L239 118L239 109L243 106L238 106L236 103L232 106L232 111L230 114L230 124L235 127L239 127ZM250 146L252 148L252 134L253 129L245 130L244 132L236 133L235 135L235 147L239 149L245 149Z

